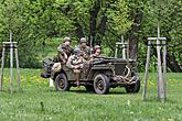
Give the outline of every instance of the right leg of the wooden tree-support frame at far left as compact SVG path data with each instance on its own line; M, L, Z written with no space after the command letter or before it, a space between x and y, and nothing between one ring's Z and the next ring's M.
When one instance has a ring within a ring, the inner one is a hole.
M20 90L20 69L19 69L19 56L18 56L18 45L15 47L15 63L17 63L17 72L18 72L18 89Z

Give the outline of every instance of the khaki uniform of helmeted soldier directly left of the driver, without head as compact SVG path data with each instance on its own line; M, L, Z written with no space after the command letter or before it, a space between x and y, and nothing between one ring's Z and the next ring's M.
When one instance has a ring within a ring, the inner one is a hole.
M82 55L83 55L84 59L88 61L89 59L89 55L90 55L90 47L89 46L82 47L81 45L78 47L82 51Z

